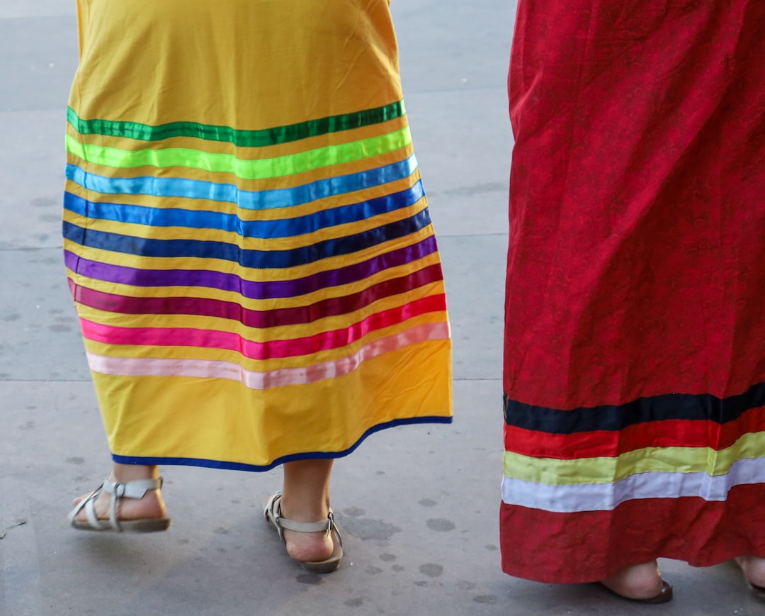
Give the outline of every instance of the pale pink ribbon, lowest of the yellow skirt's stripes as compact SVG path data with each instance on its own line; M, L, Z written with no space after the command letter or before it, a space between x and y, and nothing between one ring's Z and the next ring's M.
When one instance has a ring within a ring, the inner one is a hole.
M165 360L145 357L104 357L89 353L93 372L119 376L191 376L199 379L239 381L249 389L269 389L285 385L304 385L334 379L356 370L363 361L425 341L448 340L448 323L425 323L401 334L381 338L340 360L316 363L304 368L282 368L269 372L245 370L238 363L214 360Z

